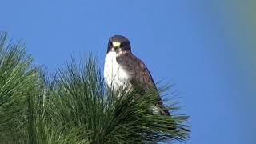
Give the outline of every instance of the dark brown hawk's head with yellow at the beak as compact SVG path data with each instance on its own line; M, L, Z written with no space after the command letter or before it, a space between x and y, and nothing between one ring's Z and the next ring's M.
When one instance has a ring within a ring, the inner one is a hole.
M114 35L110 38L109 44L107 46L108 52L130 52L130 42L129 40L122 35Z

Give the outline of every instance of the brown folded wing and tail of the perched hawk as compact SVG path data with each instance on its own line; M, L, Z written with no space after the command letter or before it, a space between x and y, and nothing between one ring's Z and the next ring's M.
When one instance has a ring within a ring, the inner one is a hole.
M143 84L144 90L157 90L150 71L139 58L134 56L134 54L122 54L121 56L117 57L117 62L122 66L122 69L126 70L126 72L130 75L130 82L133 86ZM161 109L161 114L170 115L168 110L166 110L166 108L163 106L159 95L158 102L155 103L155 106L158 106Z

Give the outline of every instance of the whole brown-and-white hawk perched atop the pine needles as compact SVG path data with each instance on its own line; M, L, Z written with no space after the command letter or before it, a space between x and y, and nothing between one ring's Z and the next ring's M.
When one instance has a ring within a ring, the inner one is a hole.
M107 46L104 78L107 86L118 90L122 86L138 86L143 84L143 90L157 89L146 65L131 52L129 40L122 35L114 35ZM170 115L163 106L158 95L154 103L153 114Z

